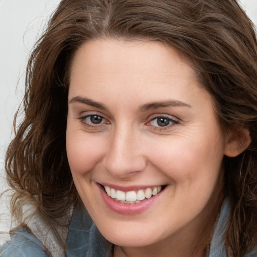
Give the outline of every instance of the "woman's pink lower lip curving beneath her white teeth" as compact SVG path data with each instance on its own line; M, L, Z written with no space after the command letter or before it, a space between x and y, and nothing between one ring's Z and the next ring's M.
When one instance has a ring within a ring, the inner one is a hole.
M152 196L151 198L143 200L139 203L121 203L121 202L115 201L113 198L108 196L101 185L99 184L97 185L100 189L101 196L104 202L106 203L106 205L109 207L109 209L111 211L114 211L116 213L123 214L123 215L134 215L134 214L139 214L141 212L144 212L157 201L157 199L160 197L160 195L163 192L162 190L157 195Z

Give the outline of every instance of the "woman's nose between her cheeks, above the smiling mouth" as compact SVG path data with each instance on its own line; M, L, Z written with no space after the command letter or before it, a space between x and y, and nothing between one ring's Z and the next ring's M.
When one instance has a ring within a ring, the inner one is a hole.
M117 128L108 140L103 166L112 176L129 177L147 165L140 133L127 126Z

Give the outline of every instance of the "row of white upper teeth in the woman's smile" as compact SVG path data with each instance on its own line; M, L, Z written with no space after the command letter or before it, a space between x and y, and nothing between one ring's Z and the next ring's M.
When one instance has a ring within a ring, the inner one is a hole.
M162 187L158 186L158 187L140 189L138 191L129 191L129 192L115 190L114 188L111 188L108 186L104 186L104 189L108 194L108 196L110 196L113 199L117 199L119 201L126 201L126 202L135 202L135 201L144 200L145 198L148 199L152 195L156 195L161 191Z

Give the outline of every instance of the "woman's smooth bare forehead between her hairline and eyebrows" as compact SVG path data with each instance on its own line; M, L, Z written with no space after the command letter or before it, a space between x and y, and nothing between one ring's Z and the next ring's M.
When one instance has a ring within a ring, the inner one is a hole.
M130 83L131 89L150 88L153 84L160 87L162 83L177 84L178 80L188 79L197 83L191 65L170 46L157 41L112 39L86 42L76 52L71 66L71 88L78 87L83 78L87 85L117 83L120 87Z

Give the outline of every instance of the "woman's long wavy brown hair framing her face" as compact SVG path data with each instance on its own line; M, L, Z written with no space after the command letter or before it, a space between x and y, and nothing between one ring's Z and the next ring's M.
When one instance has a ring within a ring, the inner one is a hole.
M236 0L62 0L32 52L24 118L6 153L12 213L33 203L49 224L80 200L66 156L67 94L72 59L96 38L151 39L190 60L213 96L224 128L245 127L251 144L224 157L231 200L226 244L241 257L257 245L257 42Z

